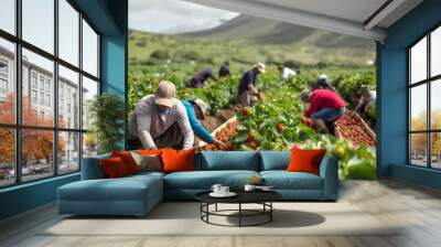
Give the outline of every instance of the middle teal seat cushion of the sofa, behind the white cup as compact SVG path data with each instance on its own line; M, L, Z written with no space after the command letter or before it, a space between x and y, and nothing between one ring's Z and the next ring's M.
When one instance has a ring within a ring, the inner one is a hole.
M174 172L164 176L166 190L209 190L213 184L220 183L234 190L241 189L254 175L255 171L193 171Z

